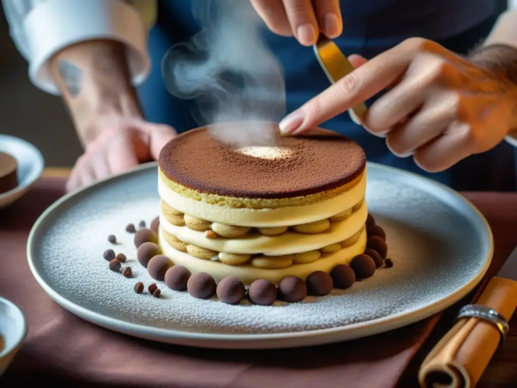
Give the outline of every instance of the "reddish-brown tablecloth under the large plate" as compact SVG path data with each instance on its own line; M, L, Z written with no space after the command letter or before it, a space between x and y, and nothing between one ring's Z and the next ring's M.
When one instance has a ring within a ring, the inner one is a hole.
M439 315L389 333L312 348L225 351L155 344L101 329L55 304L31 276L26 240L36 218L63 194L43 178L0 211L0 295L20 306L28 336L1 386L317 387L396 386ZM491 223L500 267L517 244L517 195L470 193Z

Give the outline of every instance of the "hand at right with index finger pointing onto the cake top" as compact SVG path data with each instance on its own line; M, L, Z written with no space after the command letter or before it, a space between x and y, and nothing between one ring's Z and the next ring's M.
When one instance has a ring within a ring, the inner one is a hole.
M280 130L302 133L388 89L360 120L363 127L386 137L393 154L443 171L517 127L516 53L494 45L467 61L412 38L370 61L353 55L358 68L285 117Z

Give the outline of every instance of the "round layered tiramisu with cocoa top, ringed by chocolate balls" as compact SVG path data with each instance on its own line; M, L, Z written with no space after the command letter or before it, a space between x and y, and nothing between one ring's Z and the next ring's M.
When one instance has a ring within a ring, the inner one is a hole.
M323 129L300 137L271 130L275 146L232 148L199 128L163 148L163 256L155 261L170 288L196 297L217 289L226 303L238 303L245 289L256 304L298 302L348 288L383 265L385 235L364 201L361 147Z

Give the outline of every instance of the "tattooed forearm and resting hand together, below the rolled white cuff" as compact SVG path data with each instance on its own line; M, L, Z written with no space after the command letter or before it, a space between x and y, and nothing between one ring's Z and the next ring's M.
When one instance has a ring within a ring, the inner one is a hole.
M51 67L84 148L67 191L156 160L176 135L167 125L144 120L125 44L78 42L59 51Z

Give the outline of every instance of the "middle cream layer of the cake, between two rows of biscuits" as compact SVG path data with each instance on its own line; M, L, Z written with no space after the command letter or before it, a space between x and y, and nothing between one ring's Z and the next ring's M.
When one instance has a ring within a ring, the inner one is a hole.
M207 238L205 232L198 232L186 226L173 225L163 215L160 215L160 225L163 230L184 243L218 252L282 256L317 250L330 244L340 243L356 234L364 226L367 217L368 206L363 203L347 219L332 222L330 228L323 233L302 234L287 231L278 236L266 236L254 232L237 238Z

